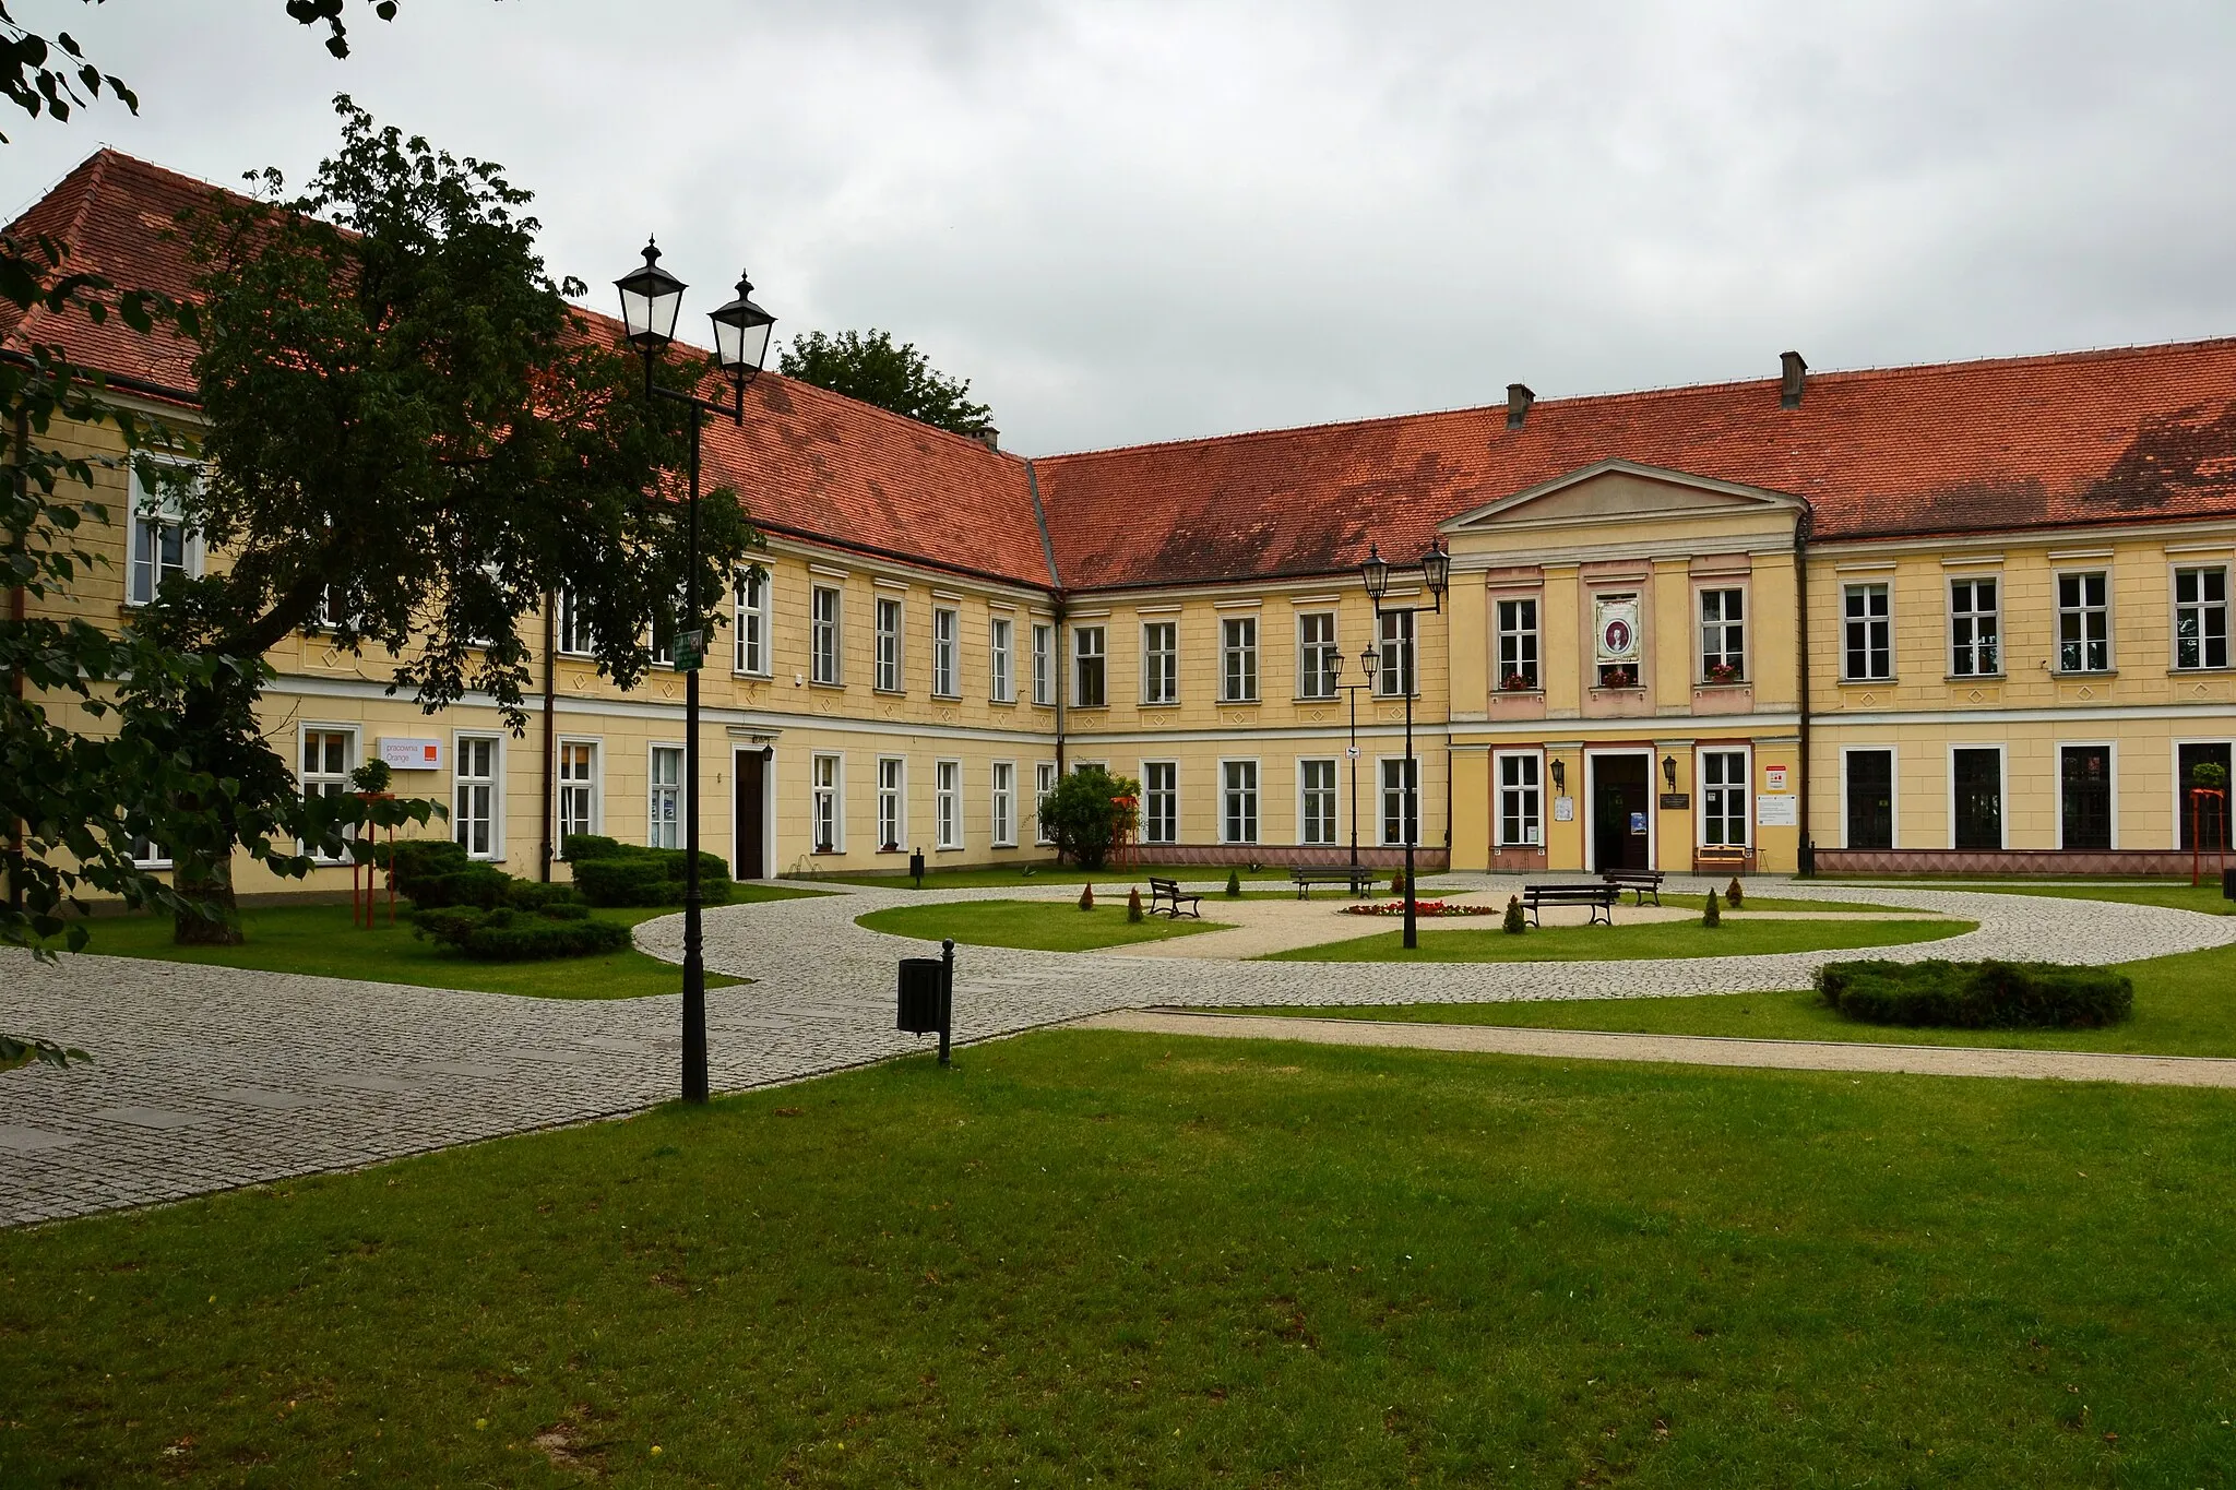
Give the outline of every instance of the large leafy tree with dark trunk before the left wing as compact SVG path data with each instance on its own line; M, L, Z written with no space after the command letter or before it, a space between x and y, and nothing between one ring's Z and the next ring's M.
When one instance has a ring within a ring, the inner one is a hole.
M150 621L224 657L318 623L396 657L391 690L427 713L479 690L523 733L521 619L546 594L575 596L622 686L678 623L684 411L644 398L637 360L568 306L584 286L546 275L530 194L499 165L378 127L347 96L335 112L342 147L306 192L282 199L264 172L257 201L192 223L208 467L179 500L228 565L168 579ZM695 610L754 541L733 491L702 503ZM172 849L181 889L224 911L179 916L179 940L237 938L233 844L295 791L259 688L233 670L177 699L174 748L241 782L192 802L210 831Z

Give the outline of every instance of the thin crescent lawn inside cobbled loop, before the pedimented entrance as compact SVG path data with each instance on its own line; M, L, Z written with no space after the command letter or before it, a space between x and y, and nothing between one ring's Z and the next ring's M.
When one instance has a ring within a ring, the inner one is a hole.
M1673 956L1742 956L1757 952L1818 952L1825 947L1894 947L1974 929L1972 920L1744 920L1719 927L1697 920L1648 920L1628 927L1545 927L1507 936L1496 918L1465 932L1427 927L1420 947L1404 949L1404 932L1359 936L1319 947L1270 952L1261 963L1572 963Z

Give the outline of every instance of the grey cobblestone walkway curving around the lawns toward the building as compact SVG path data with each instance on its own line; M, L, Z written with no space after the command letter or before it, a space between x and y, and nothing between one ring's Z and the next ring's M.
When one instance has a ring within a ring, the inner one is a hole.
M1449 876L1449 889L1491 887ZM1769 889L1769 887L1766 887ZM1684 887L1686 894L1704 894ZM854 916L928 900L1071 889L847 891L709 914L713 1086L736 1090L885 1059L899 956L923 943ZM2236 918L1950 889L1816 889L1981 929L1880 956L2115 963L2236 940ZM682 920L639 927L675 956ZM1840 952L1661 963L1313 965L959 949L957 1034L988 1039L1147 1005L1467 1003L1802 987ZM58 967L0 954L0 1028L92 1050L94 1066L0 1074L0 1224L206 1191L586 1121L675 1090L678 999L548 1001L132 958Z

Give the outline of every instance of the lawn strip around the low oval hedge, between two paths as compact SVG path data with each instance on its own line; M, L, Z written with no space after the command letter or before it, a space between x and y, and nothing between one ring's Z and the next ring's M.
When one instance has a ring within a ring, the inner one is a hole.
M1427 938L1424 938L1427 940ZM1389 1007L1266 1007L1301 1019L1402 1019L1431 1025L1527 1025L1639 1034L1878 1041L1896 1045L2006 1045L2122 1054L2236 1057L2236 947L2124 963L2135 1016L2109 1030L1912 1030L1867 1025L1818 1003L1813 992L1693 994L1670 999L1545 999L1523 1003L1402 1003ZM1232 1012L1232 1010L1221 1010Z

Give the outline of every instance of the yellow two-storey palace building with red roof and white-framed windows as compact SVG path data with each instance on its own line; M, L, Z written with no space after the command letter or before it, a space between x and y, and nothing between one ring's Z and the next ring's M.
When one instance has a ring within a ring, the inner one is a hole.
M11 232L183 286L163 230L210 190L98 152ZM0 331L192 422L190 346ZM1035 802L1082 762L1143 782L1156 862L1357 842L1391 865L1411 815L1453 869L2142 873L2189 869L2191 773L2236 742L2236 340L1854 373L1787 353L1762 380L1509 384L1051 458L762 375L707 462L769 552L702 675L698 802L680 675L613 688L566 596L528 625L521 737L472 699L423 715L318 632L275 648L266 726L304 789L378 753L523 876L563 876L566 833L673 844L689 813L740 876L1042 860ZM96 621L224 563L103 496L132 516L74 596ZM1395 565L1380 610L1371 550ZM277 887L246 860L237 882Z

